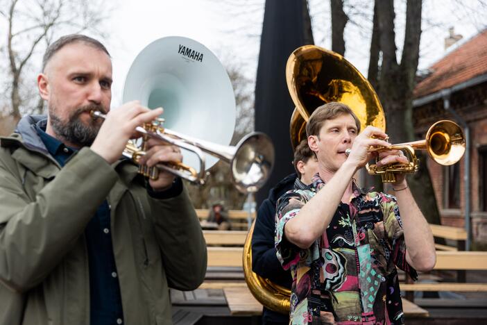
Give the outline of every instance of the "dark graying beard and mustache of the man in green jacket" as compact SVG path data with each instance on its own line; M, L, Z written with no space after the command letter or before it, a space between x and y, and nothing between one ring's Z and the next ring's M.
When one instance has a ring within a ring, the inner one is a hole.
M101 126L100 119L94 119L92 122L89 122L88 125L83 124L79 119L80 114L86 111L89 112L89 110L106 111L99 105L83 106L71 113L67 122L65 122L55 114L55 110L55 108L49 106L49 117L51 118L53 131L58 137L62 138L62 140L71 142L71 144L75 144L79 147L91 146L96 135L98 135Z

